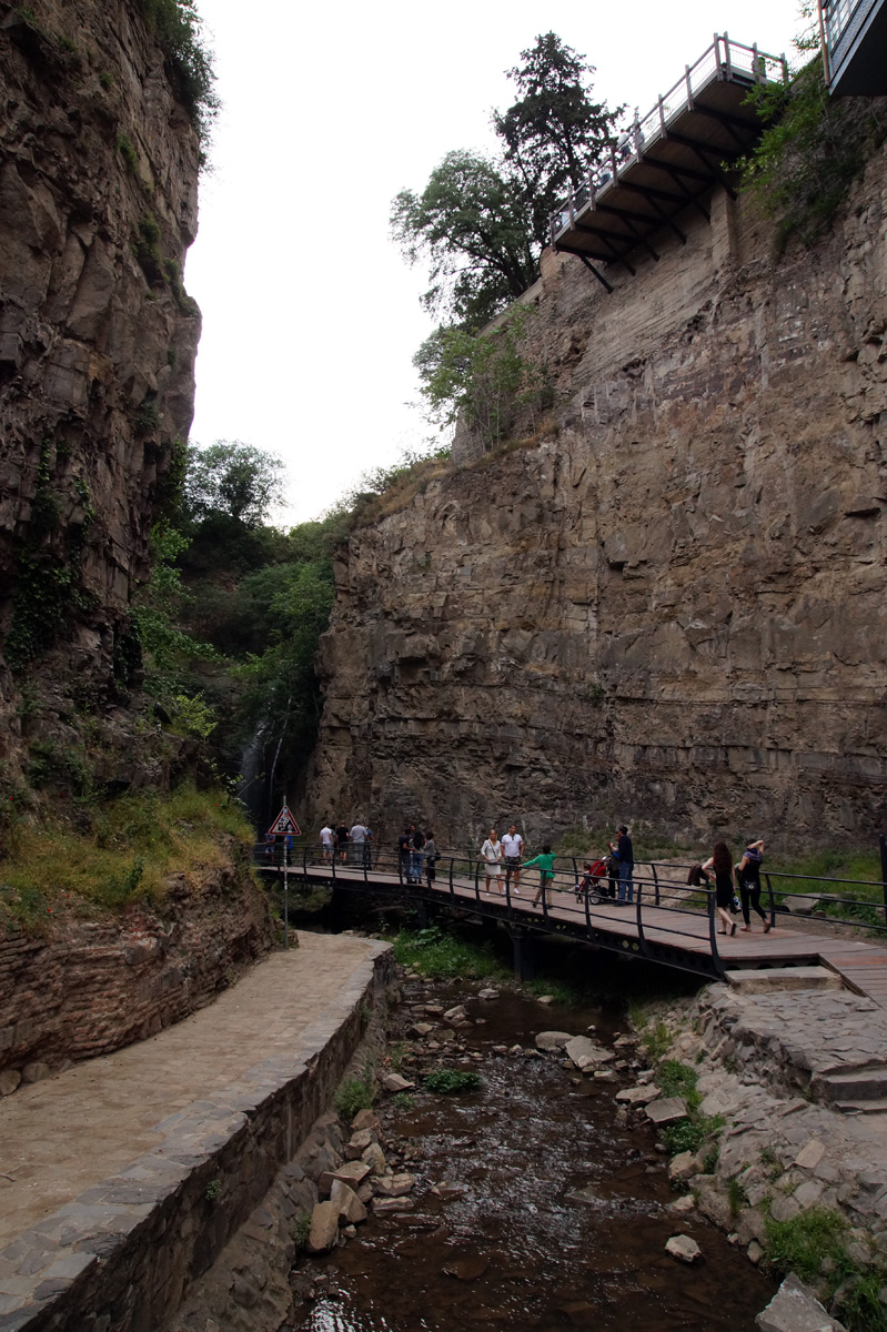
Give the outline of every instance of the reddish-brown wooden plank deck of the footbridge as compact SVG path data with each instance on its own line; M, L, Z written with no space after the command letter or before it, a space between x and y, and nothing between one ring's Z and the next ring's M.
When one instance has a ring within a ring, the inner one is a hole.
M689 902L699 890L689 890L675 882L658 883L659 906L655 904L655 890L650 880L635 878L635 900L631 906L618 906L609 900L597 904L577 902L571 886L562 884L549 890L549 904L543 910L541 904L533 904L538 887L538 876L533 870L522 871L519 892L515 894L511 887L507 895L505 875L501 880L502 895L497 891L486 894L483 874L475 882L469 874L454 872L450 876L449 870L441 872L440 868L433 887L426 882L408 886L396 871L364 870L354 864L333 867L304 862L290 867L289 874L296 882L334 884L349 891L385 892L412 898L417 903L449 903L498 919L513 930L523 927L585 938L598 947L645 956L713 978L734 968L820 963L836 971L851 990L887 1007L887 947L816 934L812 923L799 923L796 916L791 918L791 926L786 926L780 922L787 918L779 914L768 934L763 932L756 918L752 931L743 932L739 928L742 918L738 916L737 934L715 934L713 947L707 911ZM493 887L495 888L495 880Z

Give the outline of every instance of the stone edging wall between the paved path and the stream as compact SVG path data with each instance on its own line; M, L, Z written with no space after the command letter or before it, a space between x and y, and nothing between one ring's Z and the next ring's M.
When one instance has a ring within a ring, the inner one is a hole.
M162 1120L158 1147L8 1244L0 1332L164 1327L332 1102L393 964L390 944L368 940L292 1059L262 1060Z

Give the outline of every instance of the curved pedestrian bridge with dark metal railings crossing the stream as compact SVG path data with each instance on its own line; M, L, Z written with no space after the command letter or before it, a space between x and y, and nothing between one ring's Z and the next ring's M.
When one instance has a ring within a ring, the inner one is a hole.
M597 882L590 895L577 896L582 860L559 859L566 868L557 871L553 886L538 904L534 904L539 883L537 870L522 868L517 886L502 871L498 880L493 878L493 891L487 892L485 866L470 856L441 856L430 883L428 870L421 882L409 883L409 862L401 859L396 848L386 847L373 847L366 859L361 850L357 862L353 854L345 862L326 860L320 850L296 847L292 863L261 868L268 875L285 875L288 886L372 894L374 899L409 902L425 911L429 906L449 907L498 922L511 936L515 971L525 979L531 974L533 938L543 932L711 979L719 979L729 970L822 964L838 971L850 988L887 1007L887 908L875 908L871 902L858 903L866 915L868 938L875 942L858 938L859 920L835 919L824 930L816 930L818 922L791 914L792 898L810 900L811 880L800 880L807 891L798 894L791 891L792 875L762 871L762 903L767 908L770 931L764 934L762 922L754 916L752 932L742 932L742 916L738 915L735 935L725 936L719 934L714 891L687 886L689 864L635 864L634 902L621 906L606 895L610 890L606 878ZM827 894L828 887L847 886L850 880L818 882L823 884L824 899L839 896ZM855 902L843 895L840 900L843 906Z

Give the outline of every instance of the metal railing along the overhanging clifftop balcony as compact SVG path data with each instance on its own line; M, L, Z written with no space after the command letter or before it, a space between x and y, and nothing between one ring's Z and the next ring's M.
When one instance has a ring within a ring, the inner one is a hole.
M771 56L759 51L756 43L747 47L742 41L734 41L726 32L715 32L707 51L703 51L693 65L685 67L681 79L657 99L653 109L643 119L635 116L631 128L606 151L606 156L589 165L587 178L551 213L550 240L554 241L558 232L573 224L579 208L594 202L598 194L611 189L631 163L641 159L646 148L658 139L665 139L669 124L693 108L694 96L713 79L723 79L726 75L733 80L739 73L752 83L776 83L778 79L771 77L776 71L782 83L788 83L788 63L784 56Z

